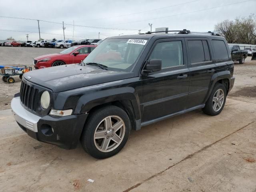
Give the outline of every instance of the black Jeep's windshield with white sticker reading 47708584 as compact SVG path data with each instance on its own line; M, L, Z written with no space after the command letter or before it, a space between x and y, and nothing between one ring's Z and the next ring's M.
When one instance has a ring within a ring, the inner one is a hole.
M131 71L147 40L106 39L85 59L84 63L98 63L108 70Z

